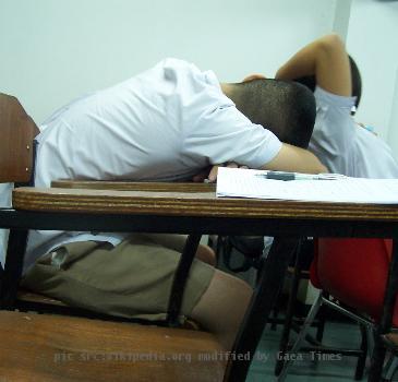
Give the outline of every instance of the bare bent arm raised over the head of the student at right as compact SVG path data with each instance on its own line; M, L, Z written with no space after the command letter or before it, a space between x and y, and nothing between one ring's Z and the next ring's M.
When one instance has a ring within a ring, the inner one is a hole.
M338 35L321 37L299 50L276 73L276 79L294 80L315 75L325 91L351 96L351 71L343 41Z

